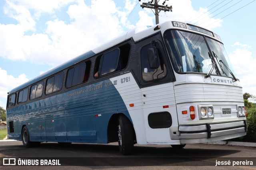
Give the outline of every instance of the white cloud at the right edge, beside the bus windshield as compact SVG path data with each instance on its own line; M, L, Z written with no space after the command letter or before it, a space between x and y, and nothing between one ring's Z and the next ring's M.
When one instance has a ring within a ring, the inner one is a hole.
M249 45L239 42L236 42L234 45L238 45L238 48L228 56L237 78L240 79L243 93L247 92L256 96L256 56L253 56L252 52L246 49L250 47Z

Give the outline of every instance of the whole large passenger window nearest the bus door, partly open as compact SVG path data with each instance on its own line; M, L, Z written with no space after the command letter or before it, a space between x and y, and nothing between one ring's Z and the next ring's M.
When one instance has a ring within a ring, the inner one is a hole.
M99 56L95 63L94 77L98 78L99 76L126 68L130 49L130 44L125 44Z

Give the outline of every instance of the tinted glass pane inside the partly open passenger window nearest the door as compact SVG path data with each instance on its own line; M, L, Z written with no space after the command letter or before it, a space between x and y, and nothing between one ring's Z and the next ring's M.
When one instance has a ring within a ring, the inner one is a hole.
M114 49L108 53L105 53L102 56L101 61L101 68L100 68L100 75L108 74L110 72L114 72L118 66L120 49Z

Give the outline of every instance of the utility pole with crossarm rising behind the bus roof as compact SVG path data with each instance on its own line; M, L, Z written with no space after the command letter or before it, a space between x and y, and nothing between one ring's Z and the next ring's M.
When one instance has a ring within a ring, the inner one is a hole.
M154 1L154 3L153 3L153 1ZM148 3L143 2L142 5L140 5L140 7L142 7L142 8L151 8L151 9L155 10L154 14L156 16L156 24L159 23L159 13L161 11L164 11L164 12L171 11L172 12L172 6L168 6L168 5L163 6L167 0L165 0L162 3L163 5L158 5L159 1L160 0L151 0L151 2L148 2Z

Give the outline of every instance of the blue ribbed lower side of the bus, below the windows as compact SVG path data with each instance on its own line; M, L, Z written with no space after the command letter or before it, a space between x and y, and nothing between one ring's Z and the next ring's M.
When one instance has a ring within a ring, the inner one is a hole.
M109 79L8 110L14 121L10 139L21 140L22 125L31 141L108 143L108 122L114 113L131 117ZM21 116L22 115L22 116ZM15 119L15 117L20 119Z

